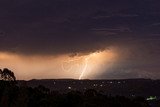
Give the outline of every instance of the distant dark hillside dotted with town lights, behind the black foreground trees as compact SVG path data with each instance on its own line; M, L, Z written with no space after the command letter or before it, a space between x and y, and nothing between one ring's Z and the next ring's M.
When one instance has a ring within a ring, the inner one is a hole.
M74 79L44 79L19 81L20 85L37 87L45 86L50 90L68 92L76 90L84 92L94 89L103 94L123 96L160 96L160 80L123 79L123 80L74 80Z

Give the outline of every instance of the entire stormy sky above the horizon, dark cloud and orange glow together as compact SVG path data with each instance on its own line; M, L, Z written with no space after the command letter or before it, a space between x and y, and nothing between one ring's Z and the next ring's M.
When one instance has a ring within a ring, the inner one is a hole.
M18 79L160 79L159 0L0 0L0 68Z

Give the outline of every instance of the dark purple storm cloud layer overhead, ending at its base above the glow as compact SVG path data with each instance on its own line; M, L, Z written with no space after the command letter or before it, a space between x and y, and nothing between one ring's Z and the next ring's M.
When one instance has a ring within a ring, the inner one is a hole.
M146 34L160 33L158 4L158 0L1 0L0 50L83 53L128 38L154 44L153 35Z

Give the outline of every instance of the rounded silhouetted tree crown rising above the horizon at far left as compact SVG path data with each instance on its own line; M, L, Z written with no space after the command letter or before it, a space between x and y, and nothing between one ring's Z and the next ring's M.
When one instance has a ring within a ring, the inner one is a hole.
M1 80L4 80L4 81L15 81L16 80L14 73L7 68L4 68L3 71L0 69L0 75L1 75Z

